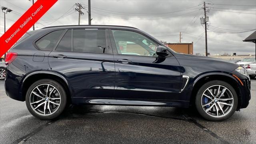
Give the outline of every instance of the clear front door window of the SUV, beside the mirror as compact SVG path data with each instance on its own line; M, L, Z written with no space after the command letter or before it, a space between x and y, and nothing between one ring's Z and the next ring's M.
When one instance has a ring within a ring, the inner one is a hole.
M137 32L112 30L118 54L156 56L158 44Z

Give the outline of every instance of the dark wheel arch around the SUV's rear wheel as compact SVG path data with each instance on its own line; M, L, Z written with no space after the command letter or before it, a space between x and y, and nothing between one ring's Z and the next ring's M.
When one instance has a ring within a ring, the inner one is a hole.
M56 80L57 82L59 82L65 89L66 93L67 93L67 100L71 101L71 96L72 96L72 88L68 82L68 80L66 80L66 78L64 76L62 76L61 74L58 74L56 72L52 72L52 71L36 71L36 72L32 72L30 74L28 74L27 76L25 76L22 80L22 84L21 84L21 88L20 88L20 93L22 94L22 99L25 100L26 98L26 92L28 90L28 88L31 86L31 84L33 84L34 82L41 80L41 79L52 79L52 80Z

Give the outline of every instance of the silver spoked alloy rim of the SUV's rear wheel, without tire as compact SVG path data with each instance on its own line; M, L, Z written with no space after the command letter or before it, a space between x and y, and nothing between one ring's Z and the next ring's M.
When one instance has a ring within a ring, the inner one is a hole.
M30 93L30 106L41 116L54 114L61 103L58 89L51 84L40 84Z

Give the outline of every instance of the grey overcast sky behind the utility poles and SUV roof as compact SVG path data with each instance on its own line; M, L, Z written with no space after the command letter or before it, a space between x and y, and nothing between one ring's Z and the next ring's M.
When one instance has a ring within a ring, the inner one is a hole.
M35 0L36 1L36 0ZM194 42L194 54L204 54L204 16L202 0L91 0L92 24L121 25L139 28L158 40ZM75 3L82 4L80 24L88 24L88 0L58 0L38 21L36 29L46 26L78 24ZM208 52L210 54L254 54L255 44L242 42L256 29L256 0L206 1ZM0 6L13 10L6 15L8 29L32 5L29 0L0 0ZM32 28L30 29L32 30ZM242 33L238 33L242 32ZM4 33L4 14L0 13L0 33Z

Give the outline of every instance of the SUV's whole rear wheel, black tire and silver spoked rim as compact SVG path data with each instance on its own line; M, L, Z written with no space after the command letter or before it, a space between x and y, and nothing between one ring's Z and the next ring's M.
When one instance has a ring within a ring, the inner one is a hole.
M50 120L58 117L66 106L66 92L55 80L34 82L26 93L26 106L36 118Z

